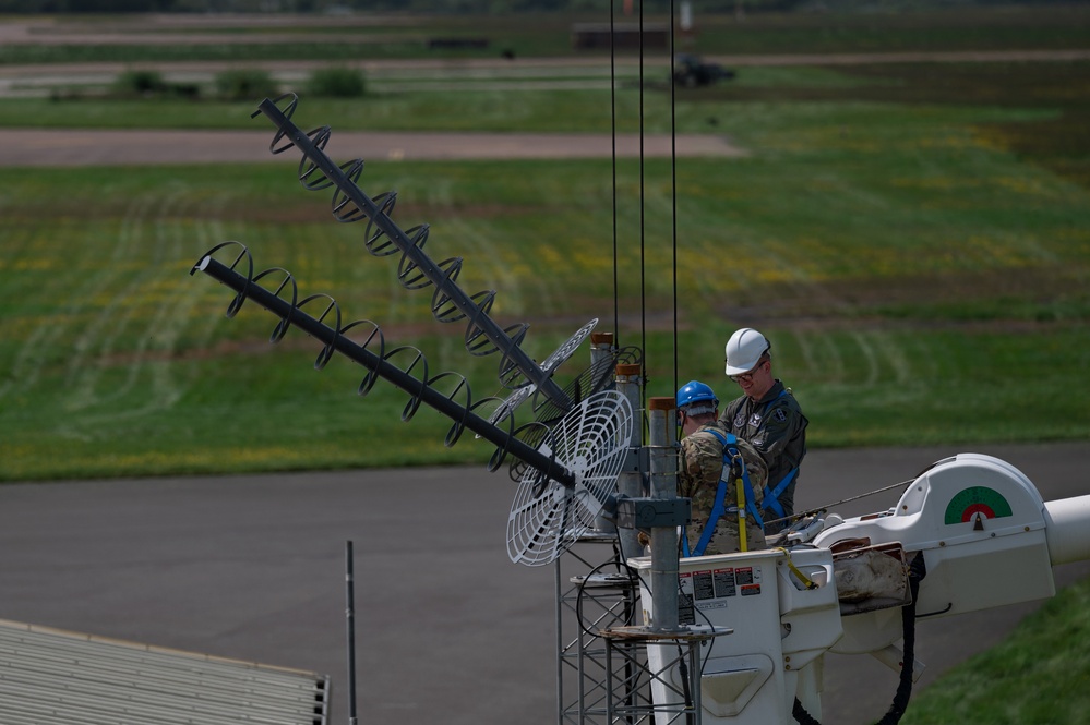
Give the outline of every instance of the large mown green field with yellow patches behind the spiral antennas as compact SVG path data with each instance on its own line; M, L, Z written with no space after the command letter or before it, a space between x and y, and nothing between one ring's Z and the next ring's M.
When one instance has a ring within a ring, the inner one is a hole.
M1080 25L1064 27L1058 47ZM531 324L539 359L587 319L616 318L621 343L645 348L648 395L699 377L726 397L722 340L756 325L815 447L1081 439L1090 64L936 69L746 68L679 93L673 109L660 82L640 94L630 76L620 130L642 118L648 132L723 133L750 156L620 162L616 289L608 160L373 161L361 186L398 190L395 219L429 222L432 256L465 257L460 283L495 289L496 315ZM0 125L261 128L252 110L10 99ZM611 96L405 83L303 97L297 121L608 133ZM469 375L476 398L502 394L496 361L462 350L464 329L431 319L430 293L399 289L396 263L370 258L362 229L334 222L327 196L292 178L294 165L0 170L0 479L487 459L479 443L444 448L448 424L431 411L391 426L404 396L379 386L357 400L361 371L337 360L314 373L312 342L289 334L271 349L266 313L223 319L226 291L187 275L239 240L259 268L290 269L304 292L419 346L432 370Z

